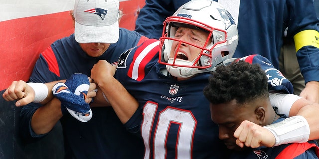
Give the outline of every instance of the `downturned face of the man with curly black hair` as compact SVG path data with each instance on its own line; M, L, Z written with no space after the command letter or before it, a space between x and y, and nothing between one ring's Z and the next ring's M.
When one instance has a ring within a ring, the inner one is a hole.
M219 127L219 139L223 140L228 149L241 150L242 148L236 145L234 132L242 121L254 122L254 111L232 100L223 104L210 104L210 112L212 120Z

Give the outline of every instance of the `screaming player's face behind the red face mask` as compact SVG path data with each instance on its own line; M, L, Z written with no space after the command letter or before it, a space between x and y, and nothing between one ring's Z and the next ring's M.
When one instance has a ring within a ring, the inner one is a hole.
M208 33L198 29L190 29L185 27L179 27L175 33L175 39L179 39L185 42L192 43L203 47L207 41ZM179 49L179 50L178 50ZM178 48L178 42L174 41L172 43L170 58L174 58L174 54L178 50L177 58L193 61L202 51L202 49L182 43L180 48Z

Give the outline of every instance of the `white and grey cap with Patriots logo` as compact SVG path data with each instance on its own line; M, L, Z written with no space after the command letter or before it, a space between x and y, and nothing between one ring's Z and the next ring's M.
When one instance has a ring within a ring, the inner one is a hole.
M119 39L118 0L75 0L75 40L116 43Z

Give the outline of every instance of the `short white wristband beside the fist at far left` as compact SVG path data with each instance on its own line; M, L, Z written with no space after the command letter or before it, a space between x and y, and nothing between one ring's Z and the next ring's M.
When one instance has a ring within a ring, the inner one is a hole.
M39 103L48 96L48 87L43 83L27 83L35 92L33 103Z

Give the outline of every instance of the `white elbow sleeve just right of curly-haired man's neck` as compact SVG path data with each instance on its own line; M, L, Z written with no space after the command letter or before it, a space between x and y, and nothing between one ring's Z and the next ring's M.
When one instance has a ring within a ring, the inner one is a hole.
M271 105L278 108L278 114L285 114L287 117L294 102L300 98L294 94L269 93Z

